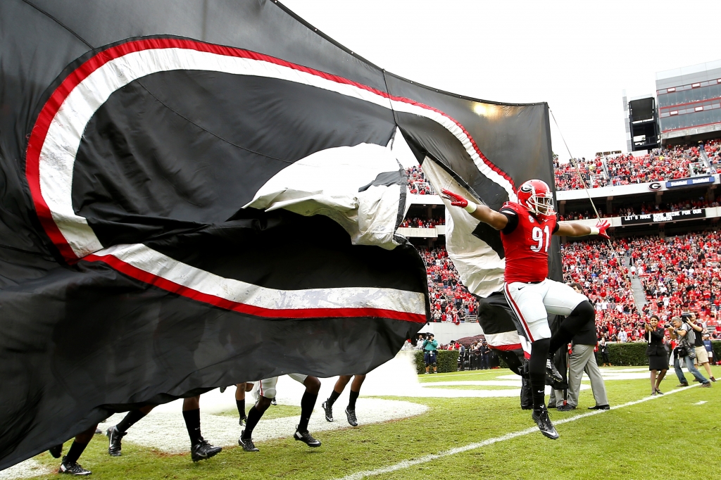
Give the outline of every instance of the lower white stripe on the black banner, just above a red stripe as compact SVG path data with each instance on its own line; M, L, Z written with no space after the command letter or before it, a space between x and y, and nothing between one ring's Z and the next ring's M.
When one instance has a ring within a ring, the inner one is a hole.
M105 255L182 287L246 306L269 310L379 308L417 314L425 319L423 293L371 287L275 290L200 270L143 244L111 246L96 252L94 257Z

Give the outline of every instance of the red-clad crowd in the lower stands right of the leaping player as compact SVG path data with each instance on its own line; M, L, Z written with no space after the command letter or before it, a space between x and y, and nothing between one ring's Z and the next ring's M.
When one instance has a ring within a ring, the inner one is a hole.
M561 251L564 280L585 287L596 306L598 334L611 342L642 339L650 314L665 321L685 310L696 312L709 324L712 336L721 338L714 328L721 312L719 244L718 231L669 239L619 239L613 242L615 252L601 241L569 243ZM624 266L624 257L629 267ZM638 275L645 288L648 303L642 309L643 319L633 306L627 274Z

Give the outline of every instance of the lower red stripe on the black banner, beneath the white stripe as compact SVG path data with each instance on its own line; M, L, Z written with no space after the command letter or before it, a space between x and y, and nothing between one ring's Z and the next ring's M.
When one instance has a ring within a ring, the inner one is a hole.
M237 311L241 314L262 316L267 319L311 319L311 318L355 318L363 316L379 317L381 319L413 321L425 324L425 314L410 314L404 311L386 310L384 308L264 308L239 303L216 295L199 292L193 288L185 287L174 283L166 278L159 277L153 273L134 267L113 255L98 256L90 254L83 258L88 262L104 262L118 272L133 277L144 283L149 283L171 293L177 293L195 301L208 303L210 305L224 308L225 310Z

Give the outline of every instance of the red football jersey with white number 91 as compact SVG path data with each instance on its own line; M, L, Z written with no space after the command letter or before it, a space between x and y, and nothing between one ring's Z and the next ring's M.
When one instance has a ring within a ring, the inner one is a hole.
M514 202L504 203L500 213L508 216L508 225L500 232L505 250L505 283L545 280L551 236L558 230L556 217L535 217Z

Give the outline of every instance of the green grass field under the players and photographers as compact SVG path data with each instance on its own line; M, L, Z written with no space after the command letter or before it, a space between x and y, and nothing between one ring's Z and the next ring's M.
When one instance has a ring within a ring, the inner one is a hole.
M604 369L606 370L606 369ZM624 370L610 368L608 370ZM721 367L715 367L721 376ZM492 380L508 370L421 375L423 383ZM691 378L690 375L687 375ZM323 445L307 448L291 438L257 443L260 453L224 448L215 458L193 463L190 454L169 455L123 443L123 456L107 455L107 440L90 443L81 464L95 479L341 479L364 478L360 471L398 466L373 479L713 479L721 478L717 453L721 434L721 383L684 388L673 370L661 389L667 394L608 412L558 423L559 440L539 432L518 435L459 453L448 450L482 443L535 427L517 397L489 399L412 399L429 407L425 414L358 428L319 432ZM611 406L644 399L649 381L606 381ZM394 397L392 399L398 399ZM580 394L572 412L552 410L552 419L572 419L595 404L590 390ZM295 407L279 406L296 415ZM358 411L363 422L363 412ZM233 412L229 412L233 414ZM317 410L321 415L322 410ZM275 415L275 414L274 414ZM339 419L337 419L338 421ZM342 420L342 419L341 419ZM65 449L68 448L66 444ZM426 455L440 454L438 458ZM57 468L48 453L35 460ZM35 477L42 478L42 477ZM58 478L51 474L45 478Z

